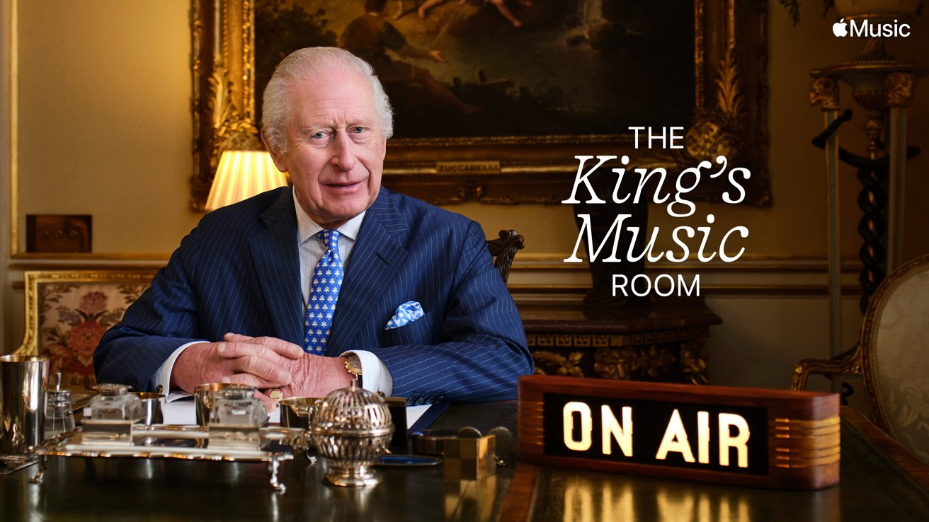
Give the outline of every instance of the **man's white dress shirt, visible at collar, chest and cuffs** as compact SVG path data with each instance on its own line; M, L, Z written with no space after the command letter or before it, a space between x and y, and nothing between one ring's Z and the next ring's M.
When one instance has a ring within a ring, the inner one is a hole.
M310 219L303 208L300 206L300 203L296 201L296 196L294 195L294 208L296 208L296 224L297 224L297 250L300 256L300 287L303 289L303 316L307 315L307 306L309 303L309 286L310 281L313 279L313 270L316 268L317 262L319 262L322 254L325 254L326 247L322 241L317 240L314 236L322 229L322 227ZM365 213L362 212L360 215L349 219L347 223L338 228L338 231L341 232L339 237L339 254L342 257L342 267L347 272L348 263L351 262L351 252L355 247L355 241L358 240L358 234L361 229L361 221L364 219ZM300 321L301 323L303 320ZM180 355L184 349L188 346L195 345L200 342L209 342L209 341L197 341L194 343L188 343L184 346L180 346L174 353L171 354L168 359L164 360L161 367L159 367L158 372L155 372L155 385L162 386L162 389L167 390L170 388L171 383L171 371L174 369L174 363L177 360L177 356ZM364 389L372 392L381 392L386 397L390 397L390 394L393 392L394 380L390 376L390 372L387 371L386 365L378 359L373 353L365 350L349 350L343 352L342 356L355 354L360 359L361 363L361 385ZM167 395L167 400L170 402L177 398L188 397L190 394L183 392L181 390L170 390L170 393Z

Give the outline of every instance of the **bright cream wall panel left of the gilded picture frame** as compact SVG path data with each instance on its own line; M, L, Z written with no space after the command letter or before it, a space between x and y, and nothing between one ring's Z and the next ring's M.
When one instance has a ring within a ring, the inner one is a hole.
M19 0L27 214L93 215L101 254L164 254L189 208L190 0Z

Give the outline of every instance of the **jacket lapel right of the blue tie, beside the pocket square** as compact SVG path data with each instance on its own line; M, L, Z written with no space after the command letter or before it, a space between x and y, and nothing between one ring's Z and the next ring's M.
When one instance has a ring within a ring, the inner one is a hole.
M326 350L329 356L351 349L352 342L360 333L358 325L373 313L372 304L384 294L387 284L407 257L402 242L398 240L407 230L406 219L400 214L392 196L389 190L381 189L364 216L345 282L339 291Z

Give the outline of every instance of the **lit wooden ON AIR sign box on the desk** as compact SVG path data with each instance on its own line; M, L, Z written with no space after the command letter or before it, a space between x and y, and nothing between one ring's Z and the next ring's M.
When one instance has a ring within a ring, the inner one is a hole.
M530 375L519 460L773 489L839 482L839 397Z

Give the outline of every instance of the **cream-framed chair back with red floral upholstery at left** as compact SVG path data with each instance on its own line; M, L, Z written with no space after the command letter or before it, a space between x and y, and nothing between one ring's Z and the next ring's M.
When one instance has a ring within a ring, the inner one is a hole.
M148 288L154 271L27 271L26 333L17 354L44 355L61 384L96 384L94 349Z

